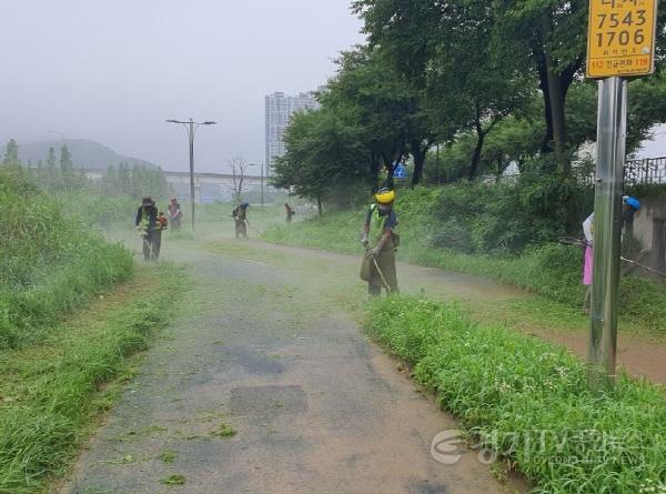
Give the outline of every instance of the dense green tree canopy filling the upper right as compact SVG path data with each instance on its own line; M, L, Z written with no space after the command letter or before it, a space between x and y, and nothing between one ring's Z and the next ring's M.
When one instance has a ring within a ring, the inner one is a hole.
M412 185L432 182L435 147L447 181L538 157L569 180L576 151L596 139L595 84L583 73L588 0L355 0L352 10L367 41L340 54L321 110L292 120L275 184L321 199L324 183L344 184L329 152L370 189L405 160ZM629 84L629 152L666 121L664 91L660 70Z

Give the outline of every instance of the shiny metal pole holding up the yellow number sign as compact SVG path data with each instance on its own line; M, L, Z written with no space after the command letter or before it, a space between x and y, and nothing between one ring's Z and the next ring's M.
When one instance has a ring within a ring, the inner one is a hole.
M627 81L598 81L597 161L594 204L594 270L588 347L588 384L613 386L617 349L617 292L622 236Z

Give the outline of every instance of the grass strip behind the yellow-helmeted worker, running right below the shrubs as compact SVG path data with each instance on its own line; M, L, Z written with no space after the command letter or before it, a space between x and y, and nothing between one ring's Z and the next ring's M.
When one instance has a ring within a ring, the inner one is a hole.
M466 254L432 245L431 191L401 191L396 202L401 233L398 259L414 264L488 278L537 293L567 308L579 308L582 253L557 243L528 248L521 256ZM274 225L263 240L286 245L360 254L359 231L364 210L331 213L321 221ZM653 330L666 331L666 286L636 276L622 283L622 314L625 320Z

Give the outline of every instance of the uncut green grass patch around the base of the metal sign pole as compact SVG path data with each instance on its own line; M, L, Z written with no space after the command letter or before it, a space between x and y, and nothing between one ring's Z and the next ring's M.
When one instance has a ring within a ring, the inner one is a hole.
M666 397L656 386L622 375L613 392L591 392L585 365L565 350L432 301L377 301L367 331L534 493L666 492Z

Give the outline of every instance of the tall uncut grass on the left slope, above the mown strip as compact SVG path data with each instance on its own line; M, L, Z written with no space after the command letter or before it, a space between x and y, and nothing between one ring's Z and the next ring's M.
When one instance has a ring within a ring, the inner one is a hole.
M65 214L18 170L0 167L0 350L39 342L105 286L129 279L132 259Z

